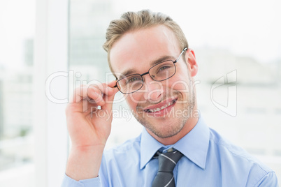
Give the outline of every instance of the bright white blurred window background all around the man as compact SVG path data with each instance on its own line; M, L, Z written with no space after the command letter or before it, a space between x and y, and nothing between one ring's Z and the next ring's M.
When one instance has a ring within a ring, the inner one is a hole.
M185 32L199 63L196 91L207 124L280 181L280 7L277 0L0 1L0 186L60 185L70 144L63 99L82 82L113 80L101 47L106 28L124 11L147 8ZM214 89L223 77L226 84ZM113 106L107 148L142 129L120 93Z

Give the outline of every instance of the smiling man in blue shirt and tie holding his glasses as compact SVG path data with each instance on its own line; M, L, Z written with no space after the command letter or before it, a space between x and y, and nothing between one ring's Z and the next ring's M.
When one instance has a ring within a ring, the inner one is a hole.
M62 186L278 186L273 170L200 117L194 51L170 17L125 13L103 47L117 81L76 89L66 108L72 147ZM117 91L145 128L104 151Z

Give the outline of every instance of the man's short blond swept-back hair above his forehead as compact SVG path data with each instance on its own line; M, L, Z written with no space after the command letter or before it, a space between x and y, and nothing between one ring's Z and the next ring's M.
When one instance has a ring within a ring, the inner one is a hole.
M159 24L165 25L173 31L175 37L178 38L180 50L184 47L188 48L187 39L185 38L182 29L180 29L180 26L168 15L164 15L163 13L153 13L150 10L127 12L124 13L119 20L111 21L106 30L106 42L103 44L103 49L108 52L108 65L110 70L113 72L110 64L111 47L124 35L124 33L157 26Z

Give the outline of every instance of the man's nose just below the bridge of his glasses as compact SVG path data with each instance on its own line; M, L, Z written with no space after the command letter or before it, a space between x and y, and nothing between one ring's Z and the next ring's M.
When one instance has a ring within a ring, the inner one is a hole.
M150 75L143 77L143 97L145 100L149 100L151 103L158 103L163 95L163 84L161 82L152 80Z

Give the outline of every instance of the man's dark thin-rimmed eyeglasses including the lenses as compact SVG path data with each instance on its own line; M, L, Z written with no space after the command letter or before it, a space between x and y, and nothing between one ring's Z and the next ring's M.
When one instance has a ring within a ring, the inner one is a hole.
M122 77L120 80L117 80L115 87L119 89L121 93L129 94L134 93L143 87L143 75L149 74L152 80L155 81L164 81L167 80L173 75L175 75L175 63L178 62L182 53L187 50L185 47L180 56L175 61L167 60L157 63L156 65L152 66L147 72L143 74L132 74L125 77Z

